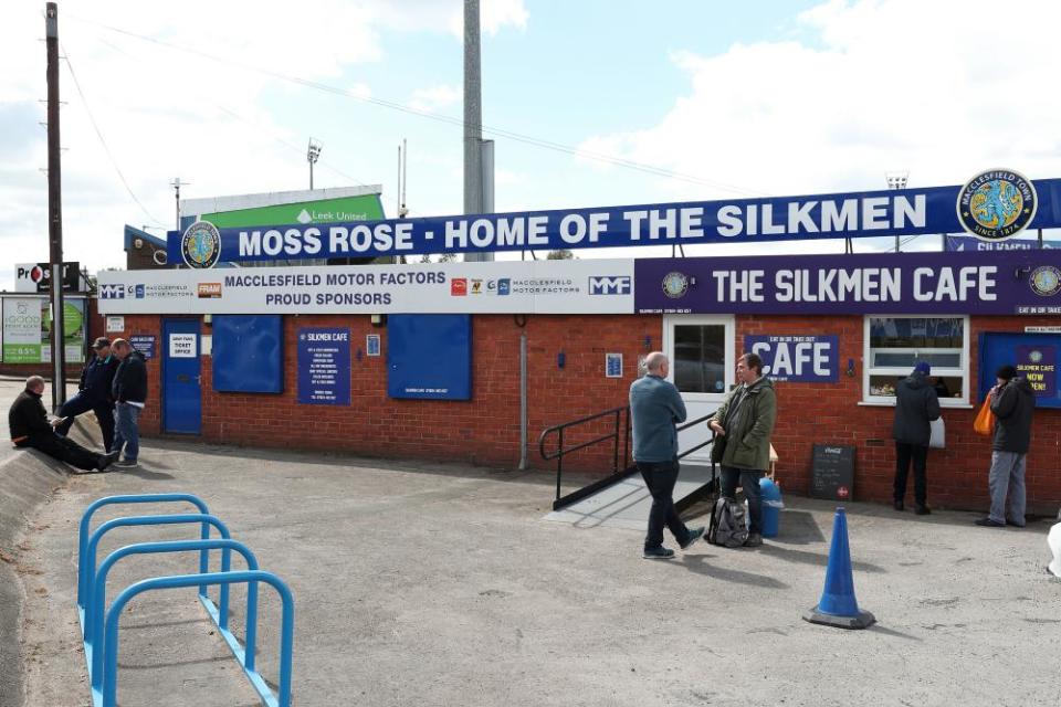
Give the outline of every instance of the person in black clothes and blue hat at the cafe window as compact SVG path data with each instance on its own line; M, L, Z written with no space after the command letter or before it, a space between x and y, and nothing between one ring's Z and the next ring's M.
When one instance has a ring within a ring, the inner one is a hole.
M895 510L905 508L906 476L914 464L914 513L928 515L928 442L933 420L939 419L939 399L928 379L932 367L918 361L913 372L895 387L895 420L892 437L895 440Z

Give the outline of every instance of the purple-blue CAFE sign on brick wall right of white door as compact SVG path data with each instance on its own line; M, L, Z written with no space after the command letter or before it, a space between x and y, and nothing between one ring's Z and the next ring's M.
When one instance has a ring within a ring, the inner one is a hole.
M834 383L840 378L839 336L746 336L744 350L763 359L763 374L790 383Z

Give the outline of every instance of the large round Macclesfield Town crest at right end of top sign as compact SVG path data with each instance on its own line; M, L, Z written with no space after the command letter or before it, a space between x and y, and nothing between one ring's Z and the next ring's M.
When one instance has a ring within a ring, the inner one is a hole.
M1031 180L1011 169L989 169L958 191L962 228L984 241L1005 241L1036 218L1039 197Z

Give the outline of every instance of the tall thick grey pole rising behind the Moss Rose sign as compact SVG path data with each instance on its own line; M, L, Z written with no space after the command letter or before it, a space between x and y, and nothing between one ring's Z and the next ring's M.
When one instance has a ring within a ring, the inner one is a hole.
M483 213L483 77L480 56L480 0L464 0L464 213ZM464 262L494 260L465 253Z

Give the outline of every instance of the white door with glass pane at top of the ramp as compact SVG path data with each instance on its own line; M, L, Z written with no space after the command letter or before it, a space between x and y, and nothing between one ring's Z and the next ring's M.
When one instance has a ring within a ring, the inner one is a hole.
M677 386L689 421L718 409L734 384L735 326L732 316L668 315L663 317L663 352L671 360L669 380ZM679 425L681 426L681 425ZM677 435L680 452L711 439L706 422ZM685 457L711 461L705 446Z

